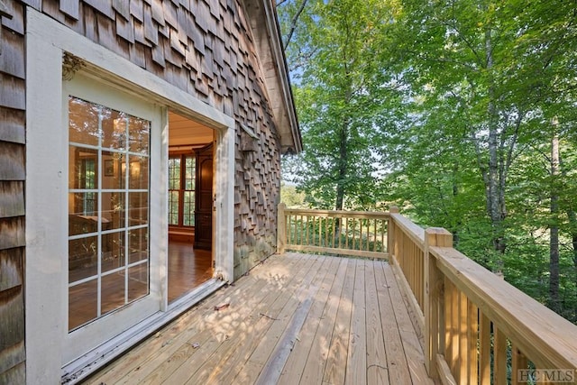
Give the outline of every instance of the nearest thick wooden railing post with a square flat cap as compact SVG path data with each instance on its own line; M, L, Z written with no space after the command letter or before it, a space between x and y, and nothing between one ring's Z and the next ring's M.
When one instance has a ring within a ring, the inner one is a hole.
M425 306L423 316L425 316L425 367L433 379L439 378L436 368L436 357L439 351L444 353L444 349L439 346L441 325L439 320L443 316L439 304L443 298L443 275L436 266L435 257L429 252L432 246L453 247L453 234L444 228L430 227L425 230L425 266L424 266L424 288Z

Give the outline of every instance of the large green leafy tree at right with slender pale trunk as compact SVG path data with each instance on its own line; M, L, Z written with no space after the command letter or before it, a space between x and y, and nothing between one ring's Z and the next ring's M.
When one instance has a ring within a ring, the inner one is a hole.
M557 75L567 69L563 58L575 41L563 39L574 9L567 2L527 6L513 0L402 5L395 53L405 63L404 78L425 105L454 106L423 125L442 121L446 136L460 135L463 147L475 151L500 271L507 248L508 173L531 142Z

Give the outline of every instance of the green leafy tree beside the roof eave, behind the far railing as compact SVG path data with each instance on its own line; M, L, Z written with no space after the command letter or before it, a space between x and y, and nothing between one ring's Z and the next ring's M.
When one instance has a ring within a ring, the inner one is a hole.
M294 20L296 4L281 20ZM391 8L378 0L308 2L290 29L289 62L296 63L295 98L305 151L292 174L315 206L375 206L376 162L391 103L382 68ZM289 160L289 163L291 161Z

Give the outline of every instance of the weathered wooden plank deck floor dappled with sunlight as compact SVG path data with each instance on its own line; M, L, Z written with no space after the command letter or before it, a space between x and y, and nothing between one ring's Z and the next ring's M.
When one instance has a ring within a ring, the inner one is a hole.
M206 298L87 383L433 382L387 262L288 252Z

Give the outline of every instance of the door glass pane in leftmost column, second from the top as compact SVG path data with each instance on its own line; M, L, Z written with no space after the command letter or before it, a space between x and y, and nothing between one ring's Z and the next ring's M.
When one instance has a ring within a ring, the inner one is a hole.
M69 188L98 186L98 151L69 146Z

